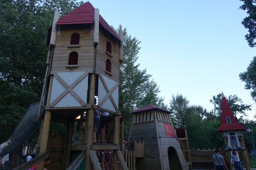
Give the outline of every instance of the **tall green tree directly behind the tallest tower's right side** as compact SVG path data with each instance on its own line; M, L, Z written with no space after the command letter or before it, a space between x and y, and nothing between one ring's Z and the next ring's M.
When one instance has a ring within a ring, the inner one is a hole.
M123 31L124 61L120 63L119 111L126 119L124 138L128 139L133 116L130 112L148 104L167 107L163 103L164 98L158 96L159 86L154 80L150 80L151 75L147 74L146 69L140 70L140 64L136 63L140 41L136 37L132 38L121 25L117 29L111 27L116 33Z

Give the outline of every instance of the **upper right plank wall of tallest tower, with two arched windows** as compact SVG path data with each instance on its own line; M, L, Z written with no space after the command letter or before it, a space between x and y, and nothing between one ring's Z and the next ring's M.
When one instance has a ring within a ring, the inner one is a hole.
M104 76L111 78L117 82L119 82L119 70L120 70L120 63L119 63L119 41L116 38L113 38L113 35L109 35L105 30L103 30L102 26L99 29L100 36L99 36L99 44L97 45L96 51L96 70L99 71ZM106 45L107 41L111 43L112 47L112 55L113 57L109 57L106 54ZM111 73L113 76L109 76L105 73L106 70L106 60L109 59L111 62Z

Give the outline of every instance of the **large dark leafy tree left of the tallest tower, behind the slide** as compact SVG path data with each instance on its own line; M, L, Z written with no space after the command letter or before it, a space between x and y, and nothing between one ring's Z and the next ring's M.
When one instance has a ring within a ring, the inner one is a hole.
M0 2L0 143L8 140L28 106L40 101L54 11L64 15L78 5L73 0ZM21 156L20 148L10 153L14 160ZM10 169L20 163L10 162Z

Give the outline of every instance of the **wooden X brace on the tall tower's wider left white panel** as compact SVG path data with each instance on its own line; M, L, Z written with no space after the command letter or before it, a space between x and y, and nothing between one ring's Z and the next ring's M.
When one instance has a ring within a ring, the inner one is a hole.
M54 74L54 77L66 88L66 90L64 92L62 92L55 100L52 101L52 103L50 104L50 107L55 106L68 92L70 92L72 94L72 96L74 96L74 98L82 105L82 106L86 106L86 102L84 102L84 100L82 100L78 94L73 90L73 88L80 82L83 80L83 78L85 78L88 75L88 71L84 72L84 74L82 74L79 78L76 79L76 81L74 83L72 83L70 86L68 86L68 84L57 74Z

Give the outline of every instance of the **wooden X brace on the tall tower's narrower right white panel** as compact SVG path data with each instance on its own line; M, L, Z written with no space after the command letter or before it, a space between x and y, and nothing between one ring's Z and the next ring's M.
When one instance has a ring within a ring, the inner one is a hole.
M113 97L112 97L112 95L111 95L111 94L116 90L116 88L118 87L119 84L116 83L116 84L114 85L114 87L113 87L111 90L109 90L109 89L108 89L108 86L107 86L106 82L104 81L104 79L103 79L103 77L102 77L101 74L99 74L99 77L100 77L100 80L101 80L102 84L104 85L104 87L105 87L105 89L106 89L106 91L107 91L107 94L103 97L103 99L100 101L100 103L98 103L98 106L101 107L101 106L103 105L103 103L104 103L108 98L110 98L111 102L113 103L113 106L114 106L115 109L116 109L116 112L119 112L119 110L118 110L118 108L117 108L117 106L116 106L116 103L115 103L115 101L114 101L114 99L113 99Z

